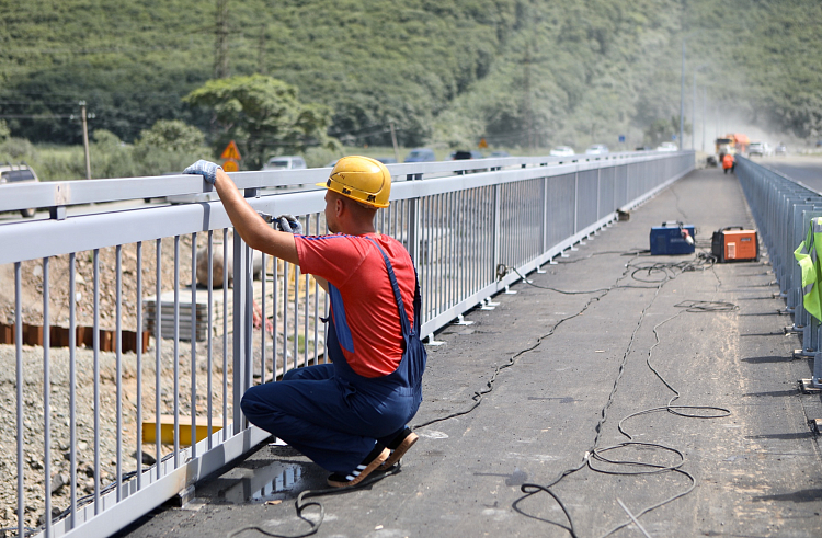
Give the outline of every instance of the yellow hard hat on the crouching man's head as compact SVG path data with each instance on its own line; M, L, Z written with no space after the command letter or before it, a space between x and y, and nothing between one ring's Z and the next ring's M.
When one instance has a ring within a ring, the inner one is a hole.
M381 162L369 157L343 157L326 183L317 183L330 191L372 207L388 207L391 195L391 174Z

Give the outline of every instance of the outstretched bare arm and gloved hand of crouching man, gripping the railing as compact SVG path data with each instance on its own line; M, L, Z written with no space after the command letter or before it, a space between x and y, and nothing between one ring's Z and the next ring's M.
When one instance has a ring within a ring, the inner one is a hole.
M292 233L272 229L246 202L231 178L217 164L199 160L183 173L199 174L213 183L235 230L252 249L265 252L293 264L299 264L297 245Z

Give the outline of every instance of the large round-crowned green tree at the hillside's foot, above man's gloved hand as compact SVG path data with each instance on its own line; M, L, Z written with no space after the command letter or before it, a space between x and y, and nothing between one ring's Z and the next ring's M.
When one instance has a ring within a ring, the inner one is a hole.
M216 128L214 149L235 140L244 168L260 169L271 153L305 152L311 147L336 150L328 136L331 108L301 103L297 88L261 75L209 80L184 98L208 108Z

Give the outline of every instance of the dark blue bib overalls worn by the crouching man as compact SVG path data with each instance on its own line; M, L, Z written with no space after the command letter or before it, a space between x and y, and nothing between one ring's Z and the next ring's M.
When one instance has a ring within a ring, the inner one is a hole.
M379 244L372 242L383 254L400 314L403 353L397 369L376 378L356 374L338 340L335 324L343 316L334 316L332 309L328 354L333 363L289 370L282 381L251 387L240 402L252 424L331 472L350 472L374 449L375 442L390 443L422 402L426 356L419 336L420 284L414 274L412 328L391 262Z

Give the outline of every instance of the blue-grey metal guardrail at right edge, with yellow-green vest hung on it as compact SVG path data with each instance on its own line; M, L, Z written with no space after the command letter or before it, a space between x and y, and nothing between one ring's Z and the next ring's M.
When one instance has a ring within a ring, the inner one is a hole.
M737 176L768 250L786 313L794 316L787 330L802 335L802 348L794 355L814 359L810 385L822 388L822 334L817 319L802 306L802 274L794 259L810 220L822 217L822 194L742 156L737 156Z

